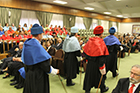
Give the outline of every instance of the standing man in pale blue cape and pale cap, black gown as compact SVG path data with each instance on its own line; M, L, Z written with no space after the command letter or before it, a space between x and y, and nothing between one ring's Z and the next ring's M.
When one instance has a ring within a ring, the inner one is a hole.
M67 86L73 86L72 79L76 78L76 74L79 73L79 66L77 56L81 56L80 44L76 38L78 33L77 27L71 28L71 35L66 37L63 43L64 56L64 71L66 74Z

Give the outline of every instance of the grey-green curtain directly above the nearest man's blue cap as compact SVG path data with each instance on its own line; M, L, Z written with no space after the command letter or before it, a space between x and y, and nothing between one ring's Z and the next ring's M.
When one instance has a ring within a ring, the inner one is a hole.
M41 11L36 11L36 17L39 20L39 23L41 25L46 25L46 24L50 24L51 20L52 20L52 13L47 13L47 12L41 12Z

